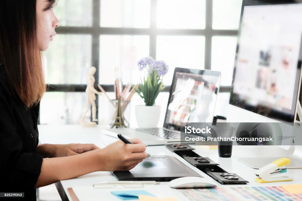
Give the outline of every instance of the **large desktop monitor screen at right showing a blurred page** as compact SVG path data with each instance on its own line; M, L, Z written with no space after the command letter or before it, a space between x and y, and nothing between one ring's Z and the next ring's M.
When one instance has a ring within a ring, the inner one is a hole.
M230 104L293 122L301 71L302 4L243 4Z

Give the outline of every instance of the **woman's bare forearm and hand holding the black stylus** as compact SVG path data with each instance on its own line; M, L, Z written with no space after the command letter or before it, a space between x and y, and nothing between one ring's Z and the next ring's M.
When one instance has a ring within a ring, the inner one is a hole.
M66 157L43 159L35 188L95 171L130 170L146 158L146 146L138 139L131 141L135 144L124 144L119 140L104 149Z

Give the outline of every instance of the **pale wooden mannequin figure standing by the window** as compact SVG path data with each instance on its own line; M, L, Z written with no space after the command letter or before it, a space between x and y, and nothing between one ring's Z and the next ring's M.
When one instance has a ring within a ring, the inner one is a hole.
M94 88L94 83L95 83L95 78L94 78L94 74L95 74L96 68L95 67L91 67L89 70L89 76L88 76L88 80L87 80L87 87L85 90L85 93L87 93L88 95L88 101L87 101L87 108L85 110L85 112L82 115L81 118L81 125L83 127L94 127L96 126L96 122L98 121L98 119L96 118L96 105L95 105L95 100L96 100L96 96L95 94L101 95L101 92L98 92L95 88ZM92 105L92 121L85 121L85 116L90 108L90 105Z

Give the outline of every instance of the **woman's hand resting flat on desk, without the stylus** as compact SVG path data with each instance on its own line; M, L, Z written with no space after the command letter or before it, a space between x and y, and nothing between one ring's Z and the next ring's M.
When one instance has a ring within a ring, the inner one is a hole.
M95 144L55 144L53 157L77 155L99 149Z

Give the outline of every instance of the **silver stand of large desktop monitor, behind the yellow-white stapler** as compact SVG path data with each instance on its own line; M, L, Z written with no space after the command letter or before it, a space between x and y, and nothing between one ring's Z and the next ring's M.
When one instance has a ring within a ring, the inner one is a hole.
M302 122L302 108L300 101L297 101L297 115L300 119L300 121L295 121L297 122ZM302 126L302 125L300 125ZM301 133L302 135L302 133ZM298 148L298 149L297 149ZM289 146L288 149L284 149L281 146L261 146L259 147L259 155L261 157L255 158L255 157L245 157L245 158L238 158L238 161L248 165L251 168L254 169L260 169L265 165L270 164L271 162L286 157L288 159L291 159L291 163L286 166L286 168L302 168L302 145L295 145L294 140L292 141L291 145ZM252 149L255 151L255 148ZM249 152L248 149L245 149L246 152ZM255 153L256 154L256 153ZM274 155L274 157L262 157L264 155ZM278 156L278 157L277 157Z

